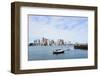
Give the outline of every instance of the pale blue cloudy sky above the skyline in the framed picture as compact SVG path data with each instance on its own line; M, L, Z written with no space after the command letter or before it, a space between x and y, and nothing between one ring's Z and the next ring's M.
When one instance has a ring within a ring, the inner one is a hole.
M35 39L88 42L88 17L29 15L29 43Z

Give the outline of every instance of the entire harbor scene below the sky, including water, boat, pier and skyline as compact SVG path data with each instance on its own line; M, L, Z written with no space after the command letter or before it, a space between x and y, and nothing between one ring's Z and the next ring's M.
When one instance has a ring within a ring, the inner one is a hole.
M37 41L34 40L34 43L30 43L28 47L28 60L88 58L87 44L72 44L62 39L56 41L57 42L54 40L50 41L46 38Z

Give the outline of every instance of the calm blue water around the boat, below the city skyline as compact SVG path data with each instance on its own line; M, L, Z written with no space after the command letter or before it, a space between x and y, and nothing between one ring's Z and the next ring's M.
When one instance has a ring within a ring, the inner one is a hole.
M64 53L53 54L55 49L62 48ZM66 49L70 49L69 51ZM88 51L74 49L73 46L29 46L28 60L55 60L88 58Z

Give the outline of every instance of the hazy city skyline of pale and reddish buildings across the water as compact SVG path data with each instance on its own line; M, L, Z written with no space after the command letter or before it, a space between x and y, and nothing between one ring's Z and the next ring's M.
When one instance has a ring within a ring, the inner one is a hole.
M41 40L40 39L34 40L32 45L52 46L52 45L65 45L65 44L66 42L64 42L63 39L58 39L57 41L54 41L47 38L42 38Z

